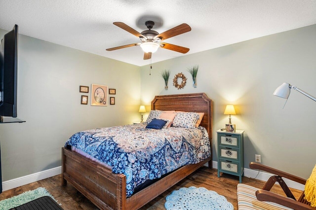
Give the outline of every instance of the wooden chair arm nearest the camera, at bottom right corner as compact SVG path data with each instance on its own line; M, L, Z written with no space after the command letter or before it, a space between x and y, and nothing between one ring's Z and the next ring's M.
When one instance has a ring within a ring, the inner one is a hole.
M259 201L273 202L294 210L316 210L316 208L307 204L300 203L267 190L257 190L256 196Z

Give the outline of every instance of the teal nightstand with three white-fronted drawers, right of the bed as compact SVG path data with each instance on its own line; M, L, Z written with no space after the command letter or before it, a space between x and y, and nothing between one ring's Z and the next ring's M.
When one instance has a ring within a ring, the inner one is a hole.
M243 175L243 132L236 133L218 130L217 133L217 169L220 172L239 176Z

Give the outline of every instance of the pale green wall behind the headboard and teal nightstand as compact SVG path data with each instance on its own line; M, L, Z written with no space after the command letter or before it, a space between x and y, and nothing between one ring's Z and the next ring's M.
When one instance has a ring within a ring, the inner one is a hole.
M194 65L199 65L197 88L187 71ZM164 69L171 70L168 90L161 77ZM180 90L172 86L179 72L188 78ZM232 123L245 130L246 168L260 154L263 164L308 178L316 164L316 103L292 91L282 109L285 100L272 94L287 82L316 96L315 78L316 25L312 25L154 63L151 75L149 66L143 66L141 98L150 108L155 95L205 92L214 101L213 160L217 160L215 131L228 123L225 105L234 104L237 115L232 115Z

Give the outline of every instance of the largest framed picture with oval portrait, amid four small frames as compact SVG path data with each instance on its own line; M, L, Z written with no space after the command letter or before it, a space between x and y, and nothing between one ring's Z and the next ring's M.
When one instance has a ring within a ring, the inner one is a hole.
M91 84L91 105L108 105L108 86Z

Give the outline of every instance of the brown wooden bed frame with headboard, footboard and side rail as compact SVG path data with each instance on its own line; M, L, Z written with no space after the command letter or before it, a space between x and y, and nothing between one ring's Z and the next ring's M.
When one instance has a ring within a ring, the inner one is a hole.
M156 96L152 109L204 112L201 126L207 129L212 148L212 101L205 93ZM101 210L137 210L190 175L212 158L183 166L126 198L126 177L67 148L62 148L62 185L70 182Z

